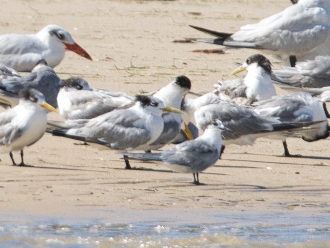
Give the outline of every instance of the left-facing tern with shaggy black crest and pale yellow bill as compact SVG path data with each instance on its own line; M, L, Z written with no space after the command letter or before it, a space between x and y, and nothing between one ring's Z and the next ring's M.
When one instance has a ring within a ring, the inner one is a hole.
M236 74L247 70L248 73L244 80L218 81L218 84L214 85L214 92L222 100L239 105L251 105L255 101L276 96L276 90L271 80L271 65L271 62L265 56L261 54L251 55L242 66L232 72L232 74Z

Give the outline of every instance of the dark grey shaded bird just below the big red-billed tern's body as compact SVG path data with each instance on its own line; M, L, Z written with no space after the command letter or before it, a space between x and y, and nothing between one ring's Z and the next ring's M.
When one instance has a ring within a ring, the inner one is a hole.
M15 94L11 93L17 93L23 88L33 88L45 96L47 103L57 108L56 98L61 83L62 80L57 76L53 68L49 67L45 60L40 60L30 73L22 77L15 76L2 80L0 82L0 99L6 99L6 96L14 98L10 104L16 105L14 103ZM17 98L16 100L16 103L18 103Z

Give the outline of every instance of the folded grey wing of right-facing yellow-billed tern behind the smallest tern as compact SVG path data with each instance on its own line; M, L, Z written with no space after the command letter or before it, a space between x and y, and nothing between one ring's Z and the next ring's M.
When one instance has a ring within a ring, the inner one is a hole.
M68 133L89 137L90 142L100 141L108 147L119 150L134 149L145 145L151 139L149 131L137 126L141 121L133 111L112 111L89 120L84 127L69 130Z

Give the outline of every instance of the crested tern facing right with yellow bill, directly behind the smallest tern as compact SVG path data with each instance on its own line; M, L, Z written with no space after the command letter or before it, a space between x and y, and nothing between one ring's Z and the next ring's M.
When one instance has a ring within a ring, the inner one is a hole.
M49 122L47 132L117 150L145 150L164 127L162 111L182 113L158 98L138 95L122 108L92 119ZM126 168L131 169L126 163Z

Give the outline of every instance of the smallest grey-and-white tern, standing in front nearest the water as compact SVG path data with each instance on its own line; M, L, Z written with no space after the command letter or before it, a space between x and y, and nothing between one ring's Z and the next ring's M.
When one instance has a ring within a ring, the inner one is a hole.
M123 153L129 157L162 161L170 169L193 173L194 184L200 184L198 173L213 166L219 159L221 132L230 131L221 121L214 120L195 140L188 140L160 153Z

